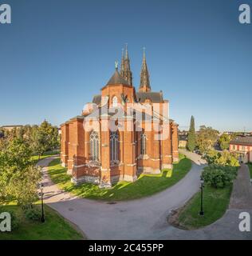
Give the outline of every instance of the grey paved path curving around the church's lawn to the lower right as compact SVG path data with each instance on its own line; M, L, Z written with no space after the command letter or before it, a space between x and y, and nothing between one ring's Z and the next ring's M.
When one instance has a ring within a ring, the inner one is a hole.
M199 190L205 166L197 154L183 153L194 162L185 178L159 194L116 204L77 198L59 190L45 167L45 202L75 223L89 239L251 239L251 233L238 231L238 210L228 210L218 222L202 230L179 230L167 223L169 212L183 206ZM48 166L52 159L43 159L39 165Z

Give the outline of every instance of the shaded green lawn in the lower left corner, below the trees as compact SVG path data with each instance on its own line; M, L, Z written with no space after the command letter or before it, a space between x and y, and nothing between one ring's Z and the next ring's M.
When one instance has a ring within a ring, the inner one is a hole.
M0 232L0 240L81 240L83 235L56 211L45 206L45 222L25 218L16 204L1 206L0 212L12 210L18 218L18 227L10 232Z

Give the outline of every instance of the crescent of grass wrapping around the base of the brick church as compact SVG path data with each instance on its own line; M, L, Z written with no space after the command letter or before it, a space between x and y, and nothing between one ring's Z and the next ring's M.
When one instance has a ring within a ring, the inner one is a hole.
M174 164L173 170L163 170L161 174L156 175L141 174L136 182L118 182L110 189L100 189L97 185L89 183L74 185L70 181L71 177L66 174L66 168L61 167L59 158L50 162L49 175L61 189L82 198L106 201L130 200L155 194L179 182L191 170L191 160L183 155L179 155L179 158L180 161Z

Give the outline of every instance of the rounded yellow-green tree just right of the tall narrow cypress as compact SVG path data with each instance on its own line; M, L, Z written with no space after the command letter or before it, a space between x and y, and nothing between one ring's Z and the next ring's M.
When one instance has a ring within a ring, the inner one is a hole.
M196 136L196 145L201 154L206 154L217 142L219 131L211 127L200 126L199 133Z

